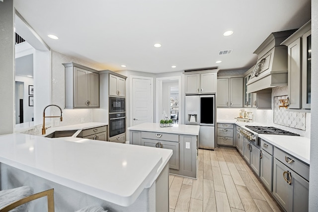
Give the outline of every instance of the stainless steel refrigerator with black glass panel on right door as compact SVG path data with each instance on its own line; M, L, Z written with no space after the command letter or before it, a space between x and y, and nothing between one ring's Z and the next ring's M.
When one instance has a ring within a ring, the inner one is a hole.
M186 95L185 124L200 125L199 148L215 148L215 95Z

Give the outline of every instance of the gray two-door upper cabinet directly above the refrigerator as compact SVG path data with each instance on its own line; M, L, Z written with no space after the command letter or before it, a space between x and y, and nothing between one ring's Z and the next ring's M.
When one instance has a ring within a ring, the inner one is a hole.
M217 71L184 72L185 94L209 94L217 91ZM197 73L199 72L199 73Z

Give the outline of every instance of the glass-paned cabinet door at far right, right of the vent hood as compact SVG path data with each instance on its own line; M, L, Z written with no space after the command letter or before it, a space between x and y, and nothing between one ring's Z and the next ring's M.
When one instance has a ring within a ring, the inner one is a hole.
M305 109L311 108L312 85L312 35L311 30L303 36L303 69L302 69L302 105Z

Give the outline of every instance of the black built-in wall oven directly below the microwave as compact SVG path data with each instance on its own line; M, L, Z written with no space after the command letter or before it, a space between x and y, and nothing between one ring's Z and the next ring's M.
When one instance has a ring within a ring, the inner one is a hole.
M125 133L126 113L109 114L109 137Z

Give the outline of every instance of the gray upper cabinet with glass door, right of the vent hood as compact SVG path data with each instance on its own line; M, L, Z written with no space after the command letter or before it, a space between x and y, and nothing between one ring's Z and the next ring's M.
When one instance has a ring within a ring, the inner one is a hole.
M283 43L288 47L288 97L290 109L311 107L311 21Z

